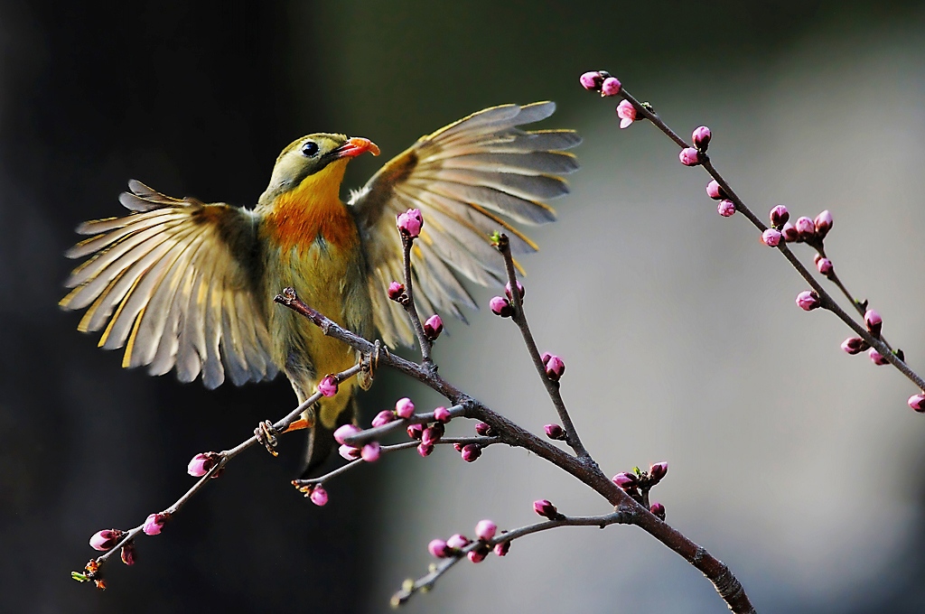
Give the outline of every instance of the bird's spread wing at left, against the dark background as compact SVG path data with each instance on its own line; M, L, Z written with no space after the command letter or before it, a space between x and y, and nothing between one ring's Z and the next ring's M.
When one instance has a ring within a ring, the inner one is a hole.
M80 330L105 326L100 346L125 347L123 366L152 375L202 373L214 388L277 375L266 316L256 296L257 218L227 204L170 198L139 181L119 201L125 217L85 222L93 235L68 251L91 256L68 278L60 304L87 309Z

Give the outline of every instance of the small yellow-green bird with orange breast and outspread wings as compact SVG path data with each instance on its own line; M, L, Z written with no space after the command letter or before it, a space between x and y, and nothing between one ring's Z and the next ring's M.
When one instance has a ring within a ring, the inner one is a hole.
M395 156L361 190L340 198L349 162L379 154L373 141L314 133L277 157L252 207L172 198L130 180L119 203L128 215L80 224L89 235L66 252L86 258L60 302L86 310L78 329L103 330L99 346L124 348L122 366L172 371L207 388L289 379L299 403L327 374L358 360L297 313L274 303L296 290L316 311L388 346L412 346L413 329L388 284L403 276L396 216L418 209L425 227L413 246L415 301L422 313L477 309L461 277L499 286L506 279L491 234L510 237L514 255L536 252L515 224L556 218L546 203L569 191L578 168L571 129L522 129L555 111L552 102L501 104L427 134ZM303 475L327 460L333 432L357 420L356 392L371 378L344 382L304 417Z

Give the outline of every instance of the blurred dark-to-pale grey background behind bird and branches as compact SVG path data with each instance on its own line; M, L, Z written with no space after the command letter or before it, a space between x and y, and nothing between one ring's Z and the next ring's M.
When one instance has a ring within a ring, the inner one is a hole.
M827 247L884 334L925 371L925 10L919 2L0 2L0 609L28 612L388 608L435 536L606 504L522 450L472 465L392 456L289 485L303 442L235 461L109 588L68 578L87 539L161 510L196 452L290 410L288 383L208 392L119 368L56 301L87 218L121 215L139 178L254 203L278 151L312 131L376 141L362 185L418 136L491 104L551 99L583 168L560 221L531 230L527 313L568 364L563 394L608 473L669 461L668 521L728 563L759 611L925 608L925 423L893 369L847 357L847 331L794 305L804 284L724 219L707 178L655 129L620 130L578 76L606 68L710 154L761 215L833 211ZM811 263L808 249L797 249ZM480 304L493 294L473 289ZM554 412L516 329L449 325L441 372L539 431ZM383 375L366 419L410 395ZM463 431L463 424L452 424ZM453 432L453 429L450 429ZM476 605L477 604L477 605ZM630 527L562 529L462 564L410 612L718 612L693 568Z

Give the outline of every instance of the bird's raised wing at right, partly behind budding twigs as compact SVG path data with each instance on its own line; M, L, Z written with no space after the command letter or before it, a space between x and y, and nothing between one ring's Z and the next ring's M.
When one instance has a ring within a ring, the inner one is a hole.
M405 314L385 292L389 281L402 278L395 216L410 208L424 215L412 259L421 309L462 318L460 306L475 309L475 302L450 267L479 284L499 284L504 263L491 233L506 232L515 255L535 252L536 245L498 214L522 224L550 222L555 212L543 201L568 192L561 175L578 164L564 150L581 138L573 130L517 128L555 108L549 102L504 104L463 117L419 139L351 198L370 267L376 328L389 345L413 342Z

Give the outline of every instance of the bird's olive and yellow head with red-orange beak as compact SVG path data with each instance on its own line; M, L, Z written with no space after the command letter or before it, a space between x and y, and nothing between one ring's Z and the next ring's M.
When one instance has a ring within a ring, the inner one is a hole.
M378 155L379 148L369 139L325 132L296 139L277 157L270 183L259 203L273 203L280 194L299 188L333 189L336 194L347 162L366 152Z

